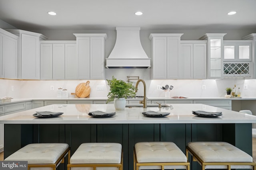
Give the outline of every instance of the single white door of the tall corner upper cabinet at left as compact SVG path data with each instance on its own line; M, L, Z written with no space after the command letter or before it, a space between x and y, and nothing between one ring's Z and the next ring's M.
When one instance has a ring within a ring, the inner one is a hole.
M40 79L39 37L21 35L21 78Z

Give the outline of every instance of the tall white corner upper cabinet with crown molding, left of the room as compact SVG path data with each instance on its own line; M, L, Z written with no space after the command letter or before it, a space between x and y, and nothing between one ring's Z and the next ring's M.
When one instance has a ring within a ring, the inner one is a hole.
M20 79L40 79L40 40L47 37L40 33L20 29L7 30L19 39L19 77Z

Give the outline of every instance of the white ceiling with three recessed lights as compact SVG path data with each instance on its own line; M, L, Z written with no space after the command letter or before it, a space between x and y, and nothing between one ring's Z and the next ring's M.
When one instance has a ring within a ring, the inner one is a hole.
M256 29L256 0L0 0L0 20L25 30Z

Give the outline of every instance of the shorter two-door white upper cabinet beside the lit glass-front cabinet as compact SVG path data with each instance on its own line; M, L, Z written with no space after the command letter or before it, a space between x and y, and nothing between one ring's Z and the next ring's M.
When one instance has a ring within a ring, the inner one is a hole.
M206 42L181 41L180 79L206 79Z

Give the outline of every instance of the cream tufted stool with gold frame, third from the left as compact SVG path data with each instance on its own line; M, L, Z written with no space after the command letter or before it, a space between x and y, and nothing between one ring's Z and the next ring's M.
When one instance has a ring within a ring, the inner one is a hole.
M140 142L134 147L134 170L186 169L190 163L173 142Z

